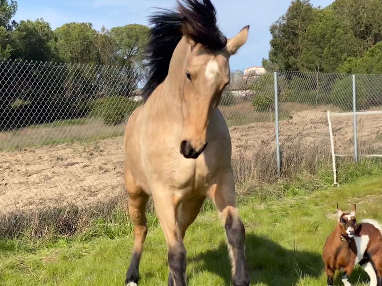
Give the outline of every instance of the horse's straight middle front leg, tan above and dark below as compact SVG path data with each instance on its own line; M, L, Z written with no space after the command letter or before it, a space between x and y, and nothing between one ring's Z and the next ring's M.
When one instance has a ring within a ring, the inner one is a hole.
M177 226L173 192L165 188L155 188L152 196L159 223L166 237L170 269L168 285L187 286L186 248L183 244L183 231Z

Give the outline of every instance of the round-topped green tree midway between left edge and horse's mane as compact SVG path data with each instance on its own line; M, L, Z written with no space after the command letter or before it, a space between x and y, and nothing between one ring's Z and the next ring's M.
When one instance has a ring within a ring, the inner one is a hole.
M100 63L100 53L95 45L97 31L91 23L66 23L56 28L57 52L67 63Z

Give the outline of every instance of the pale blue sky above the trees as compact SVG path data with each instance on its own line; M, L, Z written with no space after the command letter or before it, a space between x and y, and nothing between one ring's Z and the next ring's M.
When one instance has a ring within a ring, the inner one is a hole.
M311 0L314 6L325 7L334 0ZM217 22L227 37L234 36L249 24L247 43L231 57L231 70L261 66L268 58L271 35L269 26L286 12L291 0L212 0ZM43 18L52 29L67 22L91 22L97 30L131 23L147 25L153 7L173 7L175 0L17 0L14 19Z

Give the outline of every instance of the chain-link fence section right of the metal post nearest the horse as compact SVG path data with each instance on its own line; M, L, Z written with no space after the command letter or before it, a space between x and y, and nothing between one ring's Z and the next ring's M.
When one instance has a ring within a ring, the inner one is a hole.
M382 113L365 112L382 109L381 80L382 75L277 72L282 171L295 170L293 163L313 171L331 160L328 112L340 160L382 154Z

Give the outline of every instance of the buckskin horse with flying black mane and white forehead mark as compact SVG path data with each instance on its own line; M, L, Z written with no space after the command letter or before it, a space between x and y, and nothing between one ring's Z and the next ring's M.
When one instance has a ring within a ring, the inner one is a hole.
M230 82L229 58L247 41L249 25L227 38L210 0L177 0L175 8L149 16L149 24L143 103L124 133L125 189L134 225L125 285L138 285L151 196L166 238L169 286L187 286L183 240L205 199L225 228L232 281L248 286L231 139L218 104Z

